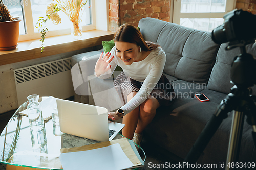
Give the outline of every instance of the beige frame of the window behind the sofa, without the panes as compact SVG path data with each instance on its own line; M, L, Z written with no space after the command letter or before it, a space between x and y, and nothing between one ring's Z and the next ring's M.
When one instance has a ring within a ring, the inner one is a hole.
M181 0L172 0L173 4L173 23L180 24L181 18L223 18L223 16L236 8L236 0L226 0L225 12L198 12L198 13L181 13Z

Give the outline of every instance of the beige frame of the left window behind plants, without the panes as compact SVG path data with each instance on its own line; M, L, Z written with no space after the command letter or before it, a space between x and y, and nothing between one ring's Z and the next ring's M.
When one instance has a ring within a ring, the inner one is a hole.
M22 6L23 11L24 11L24 20L25 20L25 30L26 34L21 34L19 35L18 41L26 41L26 40L32 40L32 39L40 39L41 38L41 33L35 33L34 29L35 26L33 25L33 18L32 18L32 9L31 9L31 1L28 0L29 3L28 5ZM98 0L99 1L99 0ZM100 0L103 1L103 0ZM95 30L96 29L96 15L95 15L95 10L97 7L95 6L95 0L91 0L91 15L92 15L92 24L87 25L87 26L82 26L82 30L89 31L89 30ZM71 34L71 29L62 29L62 30L54 30L51 31L49 30L46 33L47 37L52 37L52 36L60 36L60 35L66 35L66 34Z

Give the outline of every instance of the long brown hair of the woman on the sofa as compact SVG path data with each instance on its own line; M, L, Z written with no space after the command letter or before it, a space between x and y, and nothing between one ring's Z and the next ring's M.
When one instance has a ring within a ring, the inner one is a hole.
M143 51L155 50L160 45L145 41L139 29L130 24L121 25L114 35L114 41L129 42L141 47Z

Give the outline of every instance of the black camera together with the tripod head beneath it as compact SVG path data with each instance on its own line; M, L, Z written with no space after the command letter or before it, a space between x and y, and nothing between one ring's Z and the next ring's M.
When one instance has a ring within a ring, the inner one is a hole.
M229 42L226 50L240 47L240 55L231 67L231 83L239 86L256 84L256 60L246 53L245 46L255 43L256 15L243 10L233 10L224 15L224 23L212 30L211 38L217 44Z

